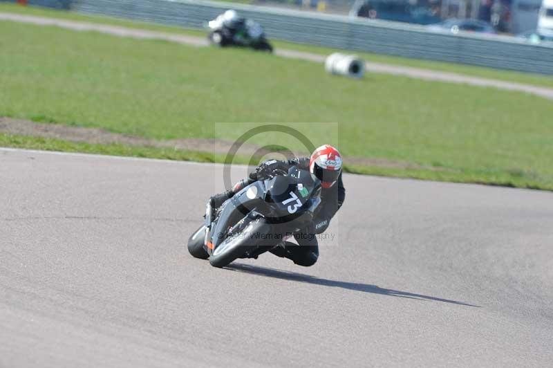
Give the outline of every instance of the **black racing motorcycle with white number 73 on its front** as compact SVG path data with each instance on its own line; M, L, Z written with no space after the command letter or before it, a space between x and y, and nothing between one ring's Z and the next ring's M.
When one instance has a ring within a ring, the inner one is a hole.
M188 239L188 251L225 267L237 258L256 258L281 246L310 223L321 203L321 182L310 172L290 167L255 181L218 209L207 203L205 223Z

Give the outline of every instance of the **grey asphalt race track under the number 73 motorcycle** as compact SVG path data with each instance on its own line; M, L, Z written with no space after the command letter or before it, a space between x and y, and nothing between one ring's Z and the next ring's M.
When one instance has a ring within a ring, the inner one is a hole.
M216 269L221 167L0 149L0 367L553 367L552 192L346 175L315 266Z

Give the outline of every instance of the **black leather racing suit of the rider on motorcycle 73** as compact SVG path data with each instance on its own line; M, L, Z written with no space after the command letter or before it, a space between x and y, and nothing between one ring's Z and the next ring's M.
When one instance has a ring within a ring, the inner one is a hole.
M221 206L226 199L238 193L246 185L250 185L257 180L263 180L269 174L278 170L288 172L291 166L309 170L309 158L292 158L287 161L269 160L262 163L256 167L254 172L250 173L247 179L243 179L236 183L232 190L213 196L211 199L212 208ZM321 234L328 228L330 220L334 217L336 212L338 212L345 198L346 190L344 189L344 183L342 183L340 174L335 185L332 185L330 188L321 189L321 204L319 208L317 208L312 223L299 234L294 235L299 246L286 241L284 246L274 248L271 252L279 257L292 259L294 264L299 264L300 266L312 266L315 264L319 257L319 243L315 234Z

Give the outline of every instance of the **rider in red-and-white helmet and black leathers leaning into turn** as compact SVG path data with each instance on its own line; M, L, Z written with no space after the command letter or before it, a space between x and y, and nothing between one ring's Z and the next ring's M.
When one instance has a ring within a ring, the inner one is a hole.
M247 185L250 185L254 181L264 180L276 171L284 170L288 172L291 166L309 170L311 174L319 178L321 181L321 204L315 213L312 223L299 234L294 234L294 238L299 246L285 241L282 246L272 249L271 252L279 257L291 259L294 261L294 264L312 266L319 257L319 243L314 235L321 234L328 228L330 220L340 209L346 198L346 190L341 180L341 155L335 147L322 145L315 149L311 157L292 158L285 161L266 161L259 165L254 172L251 172L248 178L238 181L232 190L212 196L209 199L209 204L213 209L212 214L215 216L216 208L221 207L227 199L240 192Z

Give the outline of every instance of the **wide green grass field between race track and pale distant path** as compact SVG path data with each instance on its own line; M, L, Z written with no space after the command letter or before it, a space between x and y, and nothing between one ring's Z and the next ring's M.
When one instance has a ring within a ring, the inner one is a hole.
M288 122L349 156L433 168L349 166L353 172L553 190L553 104L532 95L391 75L349 80L250 50L55 27L0 22L0 34L0 116L157 139L234 139L251 127L244 122ZM229 124L214 129L216 122ZM324 122L339 123L338 134ZM90 151L49 142L39 143ZM299 148L277 134L256 143ZM109 152L134 156L138 148L126 149ZM158 149L141 152L160 157Z

